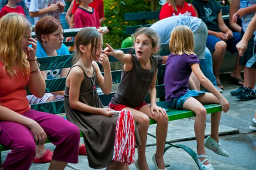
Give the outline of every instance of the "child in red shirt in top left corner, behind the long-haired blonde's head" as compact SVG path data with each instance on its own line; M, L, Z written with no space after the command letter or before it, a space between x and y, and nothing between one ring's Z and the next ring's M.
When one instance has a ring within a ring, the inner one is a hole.
M22 6L16 5L16 3L20 3L21 0L9 0L6 6L4 6L1 9L0 12L0 18L3 17L3 15L8 14L8 13L19 13L23 14L25 16L25 11L22 8Z

